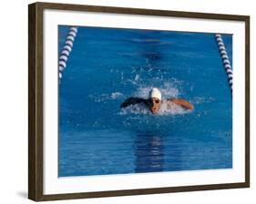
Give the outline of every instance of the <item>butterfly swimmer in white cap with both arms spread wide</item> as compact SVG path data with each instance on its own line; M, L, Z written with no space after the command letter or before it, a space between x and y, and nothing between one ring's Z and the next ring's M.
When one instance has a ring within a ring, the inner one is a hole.
M157 114L159 112L159 109L162 104L167 104L168 107L174 103L175 105L178 105L180 107L183 107L185 109L192 110L194 109L193 105L189 103L189 101L186 101L184 99L179 98L169 98L169 99L163 99L161 97L161 92L158 88L153 87L148 94L148 99L140 98L140 97L128 97L120 107L128 107L131 105L143 103L148 107L148 109L151 111L152 114Z

